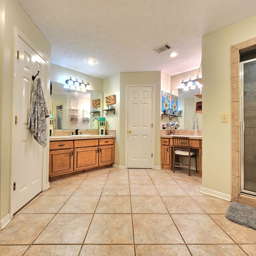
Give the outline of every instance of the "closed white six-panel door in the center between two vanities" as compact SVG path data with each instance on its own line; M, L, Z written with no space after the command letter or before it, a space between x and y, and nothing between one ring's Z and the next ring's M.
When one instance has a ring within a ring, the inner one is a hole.
M152 87L128 87L128 168L152 168Z

